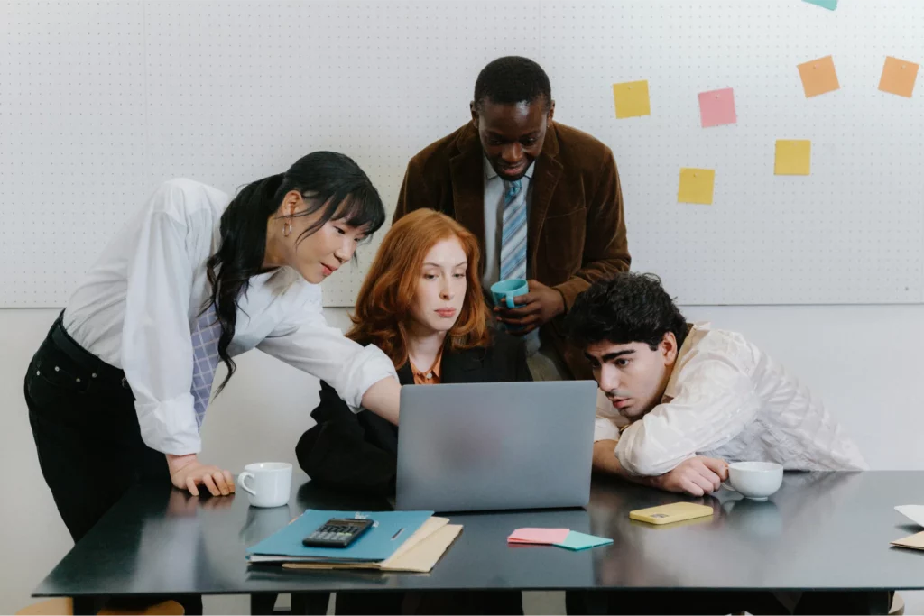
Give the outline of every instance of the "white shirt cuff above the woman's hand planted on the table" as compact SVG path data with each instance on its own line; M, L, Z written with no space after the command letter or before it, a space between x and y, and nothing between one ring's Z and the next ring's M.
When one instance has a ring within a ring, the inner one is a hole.
M171 455L200 453L202 440L191 393L172 400L135 402L141 441L151 449Z

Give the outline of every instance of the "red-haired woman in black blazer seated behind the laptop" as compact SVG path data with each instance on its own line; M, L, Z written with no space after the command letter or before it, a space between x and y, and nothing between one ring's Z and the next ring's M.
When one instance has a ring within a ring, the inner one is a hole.
M488 328L478 261L478 240L459 223L432 210L408 214L383 238L347 337L381 348L402 385L532 380L523 342ZM301 437L296 453L312 481L394 493L396 426L372 413L350 412L326 383L311 417L317 425ZM396 613L402 603L405 613L522 614L519 593L338 593L336 611Z

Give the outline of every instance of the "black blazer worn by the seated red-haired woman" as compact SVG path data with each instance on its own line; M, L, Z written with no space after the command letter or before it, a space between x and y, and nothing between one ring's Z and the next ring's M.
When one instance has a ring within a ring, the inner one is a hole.
M532 380L522 340L493 332L491 346L446 352L442 382L481 383ZM398 370L402 385L413 385L407 362ZM317 425L298 440L298 465L324 486L382 496L395 493L398 429L371 411L353 413L334 388L321 383L321 403L311 411Z

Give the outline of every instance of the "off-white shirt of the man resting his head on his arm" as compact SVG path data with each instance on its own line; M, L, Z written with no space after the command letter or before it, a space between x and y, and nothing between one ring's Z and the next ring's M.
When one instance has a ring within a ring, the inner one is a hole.
M619 423L627 422L601 393L594 441L617 440L619 464L633 475L663 475L695 455L791 470L867 468L808 388L741 334L707 324L687 334L662 404Z

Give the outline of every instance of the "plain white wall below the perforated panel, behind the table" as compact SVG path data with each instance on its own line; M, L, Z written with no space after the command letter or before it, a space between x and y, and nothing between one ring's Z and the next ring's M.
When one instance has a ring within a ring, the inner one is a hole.
M745 333L805 380L856 439L874 469L924 469L924 306L696 307L690 320ZM30 592L70 549L70 538L44 484L31 438L22 377L55 320L55 310L0 310L0 432L4 506L0 509L0 613L30 602ZM328 320L346 327L344 310ZM295 462L310 426L316 381L250 353L218 397L203 432L203 458L239 471L257 460ZM924 497L922 497L924 498ZM901 503L883 503L893 506ZM905 594L909 608L924 601ZM909 600L910 599L910 600ZM246 613L242 598L209 599L213 613ZM914 613L909 609L907 613Z

